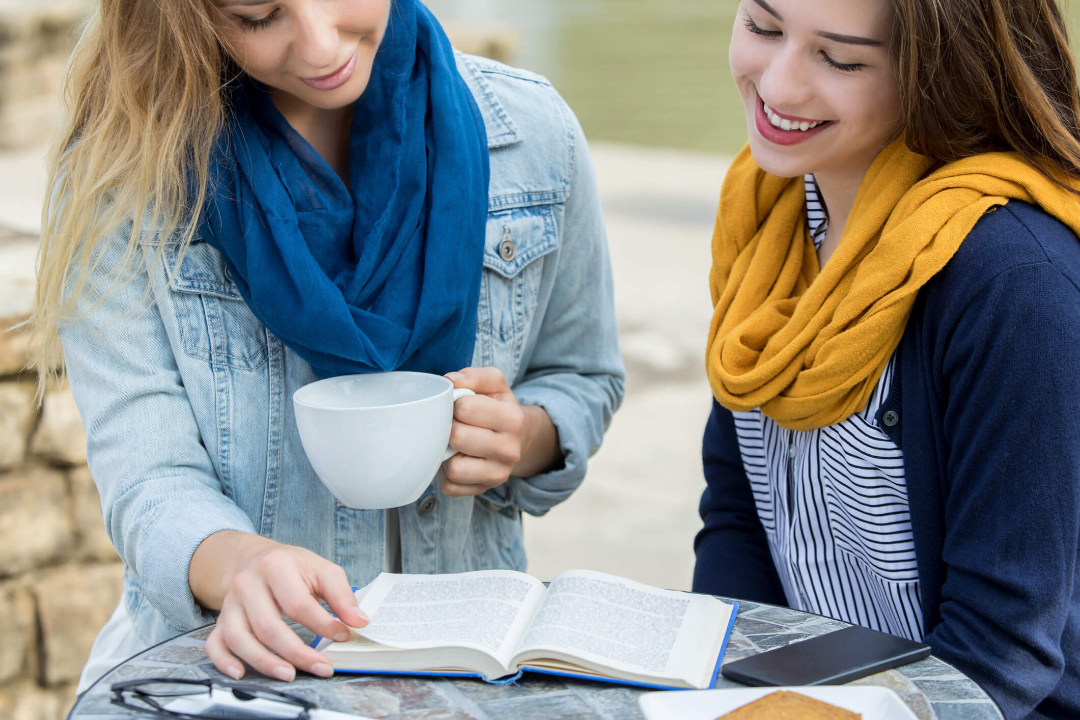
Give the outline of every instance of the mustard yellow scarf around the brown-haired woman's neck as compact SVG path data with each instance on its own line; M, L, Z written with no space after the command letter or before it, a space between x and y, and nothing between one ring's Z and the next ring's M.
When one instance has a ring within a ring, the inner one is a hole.
M724 180L713 234L706 367L716 399L792 430L860 412L900 344L920 287L978 218L1017 199L1080 234L1080 199L1013 152L937 167L897 140L863 179L819 270L802 178L764 172L750 148Z

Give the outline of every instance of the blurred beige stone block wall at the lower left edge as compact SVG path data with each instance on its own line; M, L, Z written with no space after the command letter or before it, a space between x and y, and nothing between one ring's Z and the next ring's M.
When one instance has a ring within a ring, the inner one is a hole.
M67 715L121 590L71 393L22 371L36 245L0 230L0 720Z

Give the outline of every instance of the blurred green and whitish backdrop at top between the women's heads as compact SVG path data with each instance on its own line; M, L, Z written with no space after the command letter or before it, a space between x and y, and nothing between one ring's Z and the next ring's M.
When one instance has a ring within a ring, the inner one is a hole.
M727 63L735 0L426 1L447 23L515 30L513 63L548 76L593 139L727 154L745 142Z

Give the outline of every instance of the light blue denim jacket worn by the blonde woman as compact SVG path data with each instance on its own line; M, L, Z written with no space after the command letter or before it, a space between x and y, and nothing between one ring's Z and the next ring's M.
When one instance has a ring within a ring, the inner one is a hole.
M476 498L445 497L433 480L400 511L409 573L524 569L521 511L543 515L573 492L623 395L611 271L581 127L543 78L465 55L458 64L491 159L472 364L498 367L523 405L548 411L565 464ZM311 470L292 405L293 392L315 380L309 365L255 318L208 244L188 249L170 284L175 240L152 230L144 239L135 281L104 300L87 290L80 304L92 310L60 332L90 470L125 566L123 602L140 639L158 642L213 620L191 595L188 565L219 530L307 547L366 584L382 569L386 514L336 503ZM125 244L118 233L100 266L120 263ZM159 247L164 263L156 261ZM147 283L158 301L133 314Z

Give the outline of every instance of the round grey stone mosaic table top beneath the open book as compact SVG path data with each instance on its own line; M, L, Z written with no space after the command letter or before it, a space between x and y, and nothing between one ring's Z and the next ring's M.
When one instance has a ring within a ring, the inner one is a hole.
M779 648L847 623L788 608L741 601L724 662ZM211 627L150 648L116 667L80 696L68 720L121 720L138 717L109 702L109 685L145 677L214 678L203 651ZM306 640L312 638L303 628ZM637 696L644 689L526 674L516 684L491 685L461 678L416 678L339 674L320 679L301 674L292 683L251 674L244 682L283 690L321 708L388 720L633 720L640 719ZM1000 720L994 702L972 680L937 660L905 665L856 680L895 691L919 720ZM717 688L739 688L723 677ZM870 719L867 719L870 720Z

